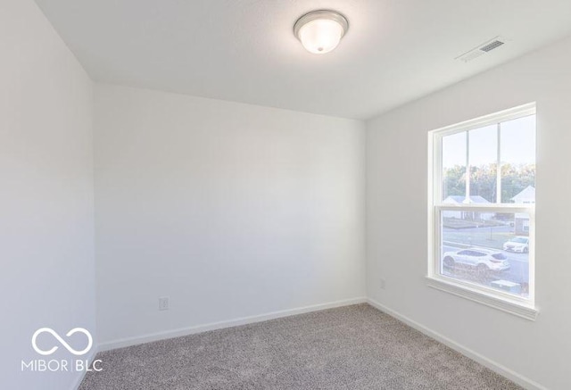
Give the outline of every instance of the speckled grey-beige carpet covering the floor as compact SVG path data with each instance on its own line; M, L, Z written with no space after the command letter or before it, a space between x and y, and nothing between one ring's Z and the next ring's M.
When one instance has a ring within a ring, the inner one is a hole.
M98 353L80 390L520 389L366 303Z

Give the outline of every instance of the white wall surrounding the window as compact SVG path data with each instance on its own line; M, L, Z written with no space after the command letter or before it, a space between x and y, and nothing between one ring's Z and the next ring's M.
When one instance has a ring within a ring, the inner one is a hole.
M368 296L550 389L571 388L570 93L567 39L370 120L367 131ZM531 322L431 289L424 277L426 132L534 101L541 313Z

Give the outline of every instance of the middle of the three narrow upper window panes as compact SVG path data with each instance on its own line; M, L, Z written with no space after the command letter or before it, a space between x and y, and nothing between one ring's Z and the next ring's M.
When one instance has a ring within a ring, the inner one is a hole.
M470 130L470 203L495 203L498 178L498 126Z

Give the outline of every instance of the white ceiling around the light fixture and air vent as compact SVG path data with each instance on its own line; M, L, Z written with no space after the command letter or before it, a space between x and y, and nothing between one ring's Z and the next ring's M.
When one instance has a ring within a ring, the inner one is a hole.
M571 35L570 0L36 0L96 81L367 119ZM342 12L309 54L303 13ZM492 37L509 45L459 54Z

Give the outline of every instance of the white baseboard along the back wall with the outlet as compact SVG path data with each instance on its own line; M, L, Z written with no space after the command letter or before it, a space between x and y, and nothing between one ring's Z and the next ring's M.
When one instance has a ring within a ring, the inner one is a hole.
M343 301L314 304L310 306L304 306L296 309L288 309L284 311L271 311L269 313L250 316L250 317L242 317L238 319L229 319L226 321L212 322L210 324L196 325L194 327L188 327L188 328L172 329L164 332L151 333L143 336L120 338L118 340L112 340L98 344L97 349L99 352L109 351L112 349L123 348L131 345L150 343L153 341L163 340L166 338L193 335L195 333L202 333L209 330L232 328L240 325L267 321L269 319L279 319L282 317L289 317L296 314L307 313L310 311L321 311L326 309L333 309L335 307L348 306L351 304L367 303L367 302L368 302L367 298L359 297L359 298L345 299Z

